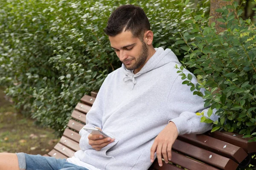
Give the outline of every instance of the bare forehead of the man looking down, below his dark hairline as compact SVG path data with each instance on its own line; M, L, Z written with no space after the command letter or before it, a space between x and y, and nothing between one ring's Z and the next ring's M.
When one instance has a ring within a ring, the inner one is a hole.
M115 37L109 36L109 41L111 44L111 47L119 49L126 45L134 44L138 40L140 40L138 37L134 37L131 33L131 31L122 31L120 34L117 34Z

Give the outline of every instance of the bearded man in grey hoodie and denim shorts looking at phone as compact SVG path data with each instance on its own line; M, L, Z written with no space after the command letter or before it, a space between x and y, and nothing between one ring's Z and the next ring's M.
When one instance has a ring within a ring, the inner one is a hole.
M82 129L81 150L67 161L2 153L0 169L147 170L156 157L160 166L162 155L166 163L172 159L178 135L211 128L195 115L205 109L204 102L182 85L174 68L180 65L175 54L153 47L153 32L143 9L120 6L104 31L122 67L103 82L85 127L101 128L114 140Z

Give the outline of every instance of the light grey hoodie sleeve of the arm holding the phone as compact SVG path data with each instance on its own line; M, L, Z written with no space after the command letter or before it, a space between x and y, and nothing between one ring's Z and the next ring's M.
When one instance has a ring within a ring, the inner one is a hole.
M101 88L99 89L99 92L93 103L92 108L86 114L86 125L84 127L91 127L91 128L99 127L102 129L102 116L103 116L104 106L105 106L104 101L105 101L106 79L103 82ZM89 144L89 139L88 139L89 134L90 133L84 130L84 128L82 128L79 131L79 135L81 136L81 139L79 142L81 150L93 149Z

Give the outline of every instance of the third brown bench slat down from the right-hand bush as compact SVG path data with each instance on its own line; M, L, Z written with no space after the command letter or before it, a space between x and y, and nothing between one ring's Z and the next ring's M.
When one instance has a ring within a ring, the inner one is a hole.
M172 149L222 170L233 170L238 167L238 164L229 158L208 150L204 150L200 147L180 141L178 139L172 145Z

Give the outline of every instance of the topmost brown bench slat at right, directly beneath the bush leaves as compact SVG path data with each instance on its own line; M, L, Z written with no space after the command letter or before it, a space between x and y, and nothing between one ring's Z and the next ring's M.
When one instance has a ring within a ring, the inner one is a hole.
M256 142L248 142L249 138L244 139L242 138L243 135L239 135L232 132L226 131L215 131L213 133L207 133L209 136L213 138L228 142L230 144L234 144L236 146L242 147L247 153L254 153L256 152Z

